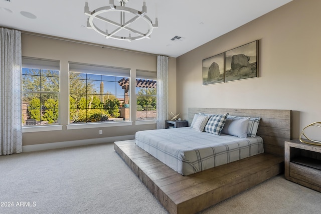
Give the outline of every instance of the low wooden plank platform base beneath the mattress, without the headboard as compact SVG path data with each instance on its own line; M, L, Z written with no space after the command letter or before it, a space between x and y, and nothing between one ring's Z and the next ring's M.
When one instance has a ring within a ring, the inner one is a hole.
M114 149L170 213L196 213L281 172L283 157L259 154L183 176L135 140L114 142Z

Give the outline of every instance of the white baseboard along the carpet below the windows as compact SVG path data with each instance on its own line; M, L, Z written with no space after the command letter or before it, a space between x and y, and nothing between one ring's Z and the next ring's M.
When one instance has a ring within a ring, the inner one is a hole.
M84 146L84 145L92 145L92 144L108 143L108 142L132 140L132 139L135 139L135 135L103 137L103 138L94 138L94 139L86 139L86 140L73 140L73 141L56 142L56 143L43 143L43 144L23 146L23 152L59 149L59 148L67 148L67 147L73 147L73 146Z

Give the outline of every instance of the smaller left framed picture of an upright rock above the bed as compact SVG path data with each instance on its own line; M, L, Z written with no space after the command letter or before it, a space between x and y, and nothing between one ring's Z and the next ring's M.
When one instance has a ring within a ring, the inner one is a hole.
M203 85L224 83L224 53L203 60Z

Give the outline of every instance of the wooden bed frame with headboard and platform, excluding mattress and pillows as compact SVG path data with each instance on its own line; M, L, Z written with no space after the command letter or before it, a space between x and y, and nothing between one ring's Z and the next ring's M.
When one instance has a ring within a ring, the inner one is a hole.
M284 171L291 110L189 108L189 124L199 112L259 117L257 136L263 139L264 152L199 172L192 167L193 173L184 176L137 146L135 140L114 142L115 151L170 213L196 213Z

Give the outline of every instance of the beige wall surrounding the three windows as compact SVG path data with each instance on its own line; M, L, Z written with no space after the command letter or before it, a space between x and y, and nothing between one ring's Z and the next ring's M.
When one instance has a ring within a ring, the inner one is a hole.
M67 130L68 124L68 62L81 62L96 65L106 65L129 68L131 73L139 70L156 71L157 57L142 53L134 53L110 48L101 48L75 42L50 39L41 36L22 34L22 55L43 59L59 60L61 65L61 95L60 95L60 118L63 129L60 131L29 132L23 134L23 145L35 145L75 141L93 138L108 138L123 135L134 135L136 131L154 129L155 124L87 128ZM170 111L176 111L176 58L169 61ZM134 91L135 86L132 86ZM133 98L131 98L133 99ZM131 120L135 120L136 109L131 108ZM99 135L98 130L103 130Z

